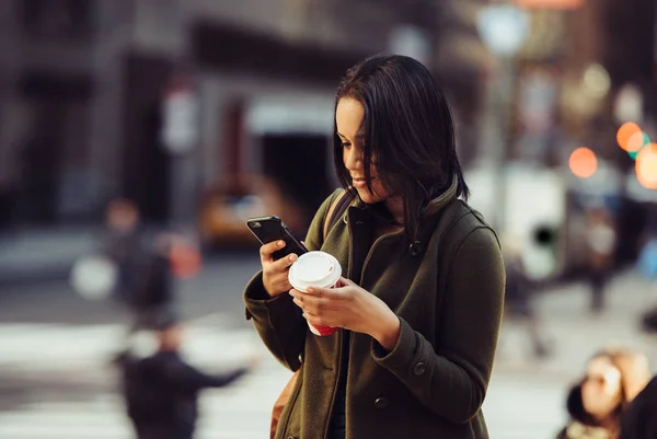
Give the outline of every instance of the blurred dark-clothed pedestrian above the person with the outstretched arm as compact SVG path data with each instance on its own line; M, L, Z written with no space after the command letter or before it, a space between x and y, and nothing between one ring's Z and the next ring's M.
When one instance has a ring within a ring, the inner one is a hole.
M115 298L130 314L129 332L175 317L170 259L173 236L148 233L139 209L125 198L108 205L106 223L102 253L117 267Z

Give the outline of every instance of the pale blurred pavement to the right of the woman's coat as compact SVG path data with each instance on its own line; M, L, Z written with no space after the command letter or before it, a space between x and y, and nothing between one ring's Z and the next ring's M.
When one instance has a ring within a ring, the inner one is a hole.
M610 345L645 353L657 366L657 337L641 332L637 316L655 300L634 270L610 282L607 309L588 312L584 282L562 285L537 298L542 326L553 340L553 355L532 361L526 330L505 322L484 413L492 438L549 439L565 425L567 391L584 373L587 360Z

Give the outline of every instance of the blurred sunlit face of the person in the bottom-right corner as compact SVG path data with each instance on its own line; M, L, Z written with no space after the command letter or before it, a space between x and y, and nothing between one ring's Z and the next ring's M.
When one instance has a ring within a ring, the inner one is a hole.
M621 371L607 357L589 362L581 384L581 401L586 412L597 419L609 416L623 401Z

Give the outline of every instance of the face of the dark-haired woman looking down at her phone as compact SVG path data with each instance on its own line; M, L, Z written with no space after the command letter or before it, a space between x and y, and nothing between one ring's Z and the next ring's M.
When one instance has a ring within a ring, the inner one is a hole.
M377 174L377 166L370 162L371 185L373 192L369 192L365 180L365 167L362 164L362 137L360 136L360 123L365 115L365 108L360 102L343 97L337 103L335 111L335 123L337 136L343 143L343 163L351 175L351 185L364 203L380 203L390 197L390 193L383 188Z

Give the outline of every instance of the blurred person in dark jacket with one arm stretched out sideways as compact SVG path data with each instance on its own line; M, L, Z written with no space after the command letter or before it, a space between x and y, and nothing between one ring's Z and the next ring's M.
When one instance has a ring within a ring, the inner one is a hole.
M138 439L192 439L200 391L229 385L254 366L206 374L181 357L182 332L182 324L166 322L155 331L157 353L138 358L126 351L116 360L127 414Z

